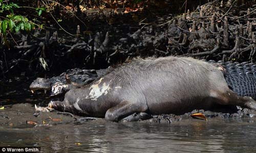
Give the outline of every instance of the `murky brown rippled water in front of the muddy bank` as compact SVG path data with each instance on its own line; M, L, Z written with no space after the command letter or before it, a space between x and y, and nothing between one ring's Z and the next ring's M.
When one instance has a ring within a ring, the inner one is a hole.
M172 124L104 120L0 127L1 146L44 152L254 152L256 122L189 119ZM67 138L66 138L67 137Z

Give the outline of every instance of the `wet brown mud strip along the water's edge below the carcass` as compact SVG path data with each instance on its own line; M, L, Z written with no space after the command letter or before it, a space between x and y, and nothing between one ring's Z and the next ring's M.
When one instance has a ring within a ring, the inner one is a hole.
M197 121L200 119L192 118L190 115L193 113L202 113L207 117L208 122L212 119L225 120L231 119L233 121L249 121L253 122L256 120L256 111L249 109L236 108L229 109L230 112L220 113L204 110L194 110L192 112L183 114L183 115L174 115L174 114L162 114L162 115L153 115L151 119L142 120L139 122L146 123L175 123L175 122L191 122ZM81 116L74 116L68 114L59 114L59 112L40 112L37 117L33 115L35 113L34 105L29 103L15 104L15 105L6 105L4 110L0 110L0 125L10 128L25 128L25 127L50 127L57 124L80 124L82 122L106 122L102 118L98 119L82 119ZM76 119L78 120L76 120ZM203 120L202 120L203 121ZM126 122L126 121L121 121ZM61 125L62 126L62 125Z

